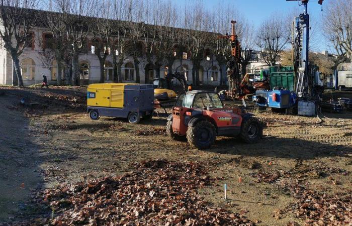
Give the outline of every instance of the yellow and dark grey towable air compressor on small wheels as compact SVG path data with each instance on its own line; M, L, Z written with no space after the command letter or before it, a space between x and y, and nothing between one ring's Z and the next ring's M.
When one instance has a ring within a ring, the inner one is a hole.
M127 118L130 123L151 119L154 110L152 84L102 83L87 89L87 112L93 120L101 116Z

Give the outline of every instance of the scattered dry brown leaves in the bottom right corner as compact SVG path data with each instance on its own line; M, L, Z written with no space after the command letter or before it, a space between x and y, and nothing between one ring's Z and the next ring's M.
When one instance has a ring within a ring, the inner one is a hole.
M344 169L322 165L299 166L289 171L259 170L250 174L257 182L273 183L298 200L285 210L274 212L273 217L280 219L285 212L293 212L306 225L348 225L352 220L352 190L328 195L309 188L309 178L320 178L327 174L347 175ZM295 225L289 222L288 225Z

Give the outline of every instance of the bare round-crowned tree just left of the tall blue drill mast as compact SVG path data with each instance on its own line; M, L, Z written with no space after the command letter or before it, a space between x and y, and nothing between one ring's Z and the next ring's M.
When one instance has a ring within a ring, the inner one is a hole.
M290 41L290 26L287 21L283 16L275 14L263 21L258 28L256 45L269 66L276 64L280 52Z

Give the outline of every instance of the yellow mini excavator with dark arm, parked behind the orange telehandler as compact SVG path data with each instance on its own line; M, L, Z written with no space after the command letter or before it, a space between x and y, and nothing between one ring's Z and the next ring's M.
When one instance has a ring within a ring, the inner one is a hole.
M164 78L154 79L154 99L164 107L173 106L177 98L177 93L174 91L172 84L174 78L180 82L183 91L186 92L188 88L187 81L180 72L168 73Z

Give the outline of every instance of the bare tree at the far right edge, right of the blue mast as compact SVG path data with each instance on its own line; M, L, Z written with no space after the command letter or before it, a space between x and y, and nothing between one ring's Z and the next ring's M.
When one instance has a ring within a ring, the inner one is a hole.
M333 1L327 7L322 24L324 35L331 43L337 58L333 70L347 58L352 64L352 1Z

